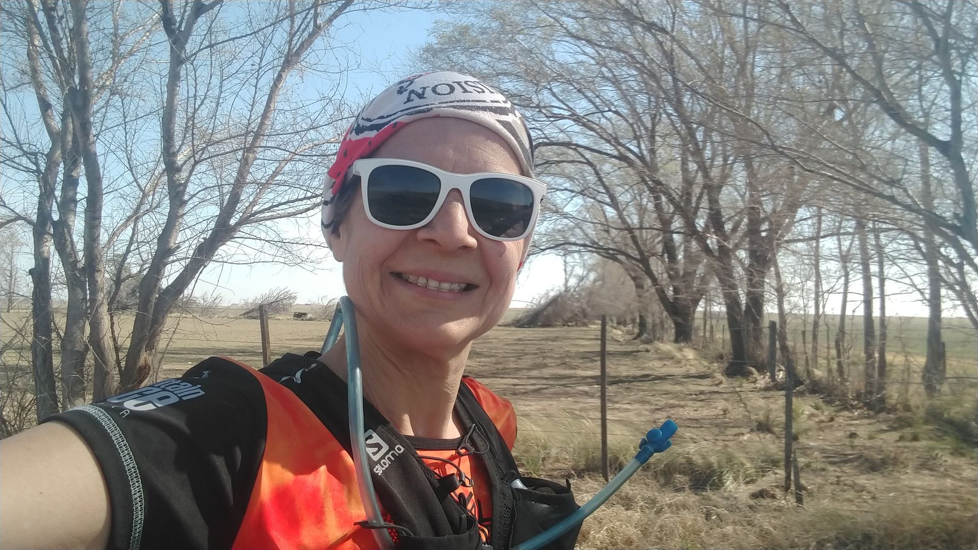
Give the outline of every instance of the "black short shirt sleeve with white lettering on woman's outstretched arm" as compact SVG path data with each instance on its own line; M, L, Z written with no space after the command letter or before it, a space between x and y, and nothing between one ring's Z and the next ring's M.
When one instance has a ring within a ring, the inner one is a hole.
M211 357L47 419L78 431L109 485L111 549L231 548L265 447L264 392Z

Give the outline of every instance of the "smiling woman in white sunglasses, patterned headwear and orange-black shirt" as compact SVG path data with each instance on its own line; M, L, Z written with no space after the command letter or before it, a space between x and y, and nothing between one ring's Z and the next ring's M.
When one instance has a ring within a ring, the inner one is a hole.
M510 402L464 376L532 239L532 150L506 97L432 72L364 108L329 170L382 525L356 488L340 340L260 371L210 357L0 442L0 546L505 549L568 517L568 485L520 475Z

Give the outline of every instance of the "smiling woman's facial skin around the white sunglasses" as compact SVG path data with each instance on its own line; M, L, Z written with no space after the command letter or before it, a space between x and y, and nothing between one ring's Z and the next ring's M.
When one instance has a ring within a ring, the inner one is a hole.
M374 158L416 160L457 173L519 174L519 162L495 132L461 118L422 118L398 130ZM372 223L358 192L331 239L358 320L375 338L420 350L461 350L491 329L510 305L526 240L500 242L469 224L453 190L430 223L410 231ZM407 280L466 283L441 292Z

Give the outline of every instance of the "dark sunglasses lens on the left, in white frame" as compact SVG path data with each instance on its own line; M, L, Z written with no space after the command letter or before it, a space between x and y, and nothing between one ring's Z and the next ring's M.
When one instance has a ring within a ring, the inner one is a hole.
M438 201L438 176L414 166L378 166L367 181L367 207L381 223L421 223Z

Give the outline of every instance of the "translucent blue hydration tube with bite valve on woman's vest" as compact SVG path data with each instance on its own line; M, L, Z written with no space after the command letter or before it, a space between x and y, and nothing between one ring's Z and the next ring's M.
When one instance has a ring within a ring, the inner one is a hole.
M364 402L363 402L363 379L360 374L360 341L357 338L357 322L354 317L353 302L349 297L340 297L333 312L333 322L330 323L330 331L327 333L326 341L323 343L322 352L326 353L336 340L339 338L339 329L345 325L346 339L346 397L349 401L350 417L350 444L353 448L353 466L356 472L357 486L360 489L360 499L364 503L364 511L367 513L367 524L372 527L374 538L383 550L393 550L394 543L390 539L390 533L384 528L383 517L380 516L380 504L377 492L374 490L374 483L371 482L370 466L367 463L367 445L364 441ZM591 500L584 503L576 512L567 516L554 527L550 527L544 532L533 538L517 545L512 550L538 550L549 544L556 537L567 532L571 527L580 524L598 510L607 499L611 498L625 481L628 481L648 459L657 452L662 452L672 446L670 437L676 434L679 429L672 420L666 420L662 426L649 430L642 441L639 442L639 452L629 462L617 476L608 481L598 494ZM522 481L518 479L512 482L513 487L526 488Z

